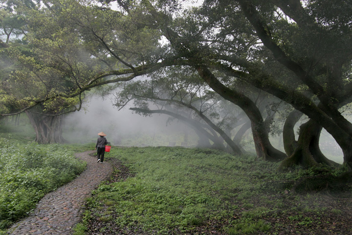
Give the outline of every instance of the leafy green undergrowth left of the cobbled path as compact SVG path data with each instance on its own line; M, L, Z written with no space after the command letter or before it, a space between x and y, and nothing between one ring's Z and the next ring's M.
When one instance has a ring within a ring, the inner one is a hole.
M85 167L63 145L0 138L0 234L34 209L44 194L70 182Z

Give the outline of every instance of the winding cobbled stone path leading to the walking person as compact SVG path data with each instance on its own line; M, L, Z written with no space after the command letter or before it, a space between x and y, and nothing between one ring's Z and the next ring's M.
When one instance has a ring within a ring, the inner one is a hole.
M86 198L101 181L112 172L109 162L96 163L96 158L87 151L76 157L87 162L87 169L72 182L46 194L37 208L28 217L14 224L11 235L70 235L72 228L80 222Z

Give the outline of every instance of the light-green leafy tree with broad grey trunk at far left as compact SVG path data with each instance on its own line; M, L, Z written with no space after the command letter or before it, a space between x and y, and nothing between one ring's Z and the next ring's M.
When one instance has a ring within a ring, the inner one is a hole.
M40 8L39 2L28 0L11 1L2 9L13 15L11 22L22 24L4 24L9 20L2 24L7 38L1 48L1 113L13 115L24 111L35 130L35 141L63 142L61 115L79 110L82 99L81 94L72 98L60 94L77 90L75 81L87 77L88 71L93 70L87 67L89 61L82 59L83 50L74 42L73 31L54 43L54 40L42 40L41 28L45 27L45 35L50 37L50 30L62 28L62 24L56 22L47 27L52 19ZM55 50L55 56L50 56L45 47ZM89 54L85 57L89 58Z

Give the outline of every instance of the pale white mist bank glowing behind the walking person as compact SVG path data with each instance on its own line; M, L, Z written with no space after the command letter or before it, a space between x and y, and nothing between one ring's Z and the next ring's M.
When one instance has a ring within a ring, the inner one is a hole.
M133 106L133 104L131 104ZM109 97L93 96L83 103L85 110L68 114L64 119L64 138L71 143L95 144L103 131L112 145L174 146L195 145L198 141L188 126L166 115L144 117L133 114L127 106L118 110Z

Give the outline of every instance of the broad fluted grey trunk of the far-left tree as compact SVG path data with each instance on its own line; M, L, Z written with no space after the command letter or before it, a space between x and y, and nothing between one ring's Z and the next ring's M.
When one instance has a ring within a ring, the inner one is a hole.
M34 131L36 133L35 141L38 143L64 143L66 140L62 137L62 116L45 116L42 114L25 111Z

